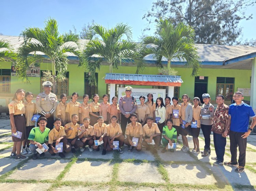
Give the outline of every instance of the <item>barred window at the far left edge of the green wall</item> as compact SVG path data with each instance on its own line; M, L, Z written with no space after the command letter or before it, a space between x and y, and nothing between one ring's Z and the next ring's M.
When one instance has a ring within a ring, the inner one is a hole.
M0 93L11 92L11 69L0 69Z

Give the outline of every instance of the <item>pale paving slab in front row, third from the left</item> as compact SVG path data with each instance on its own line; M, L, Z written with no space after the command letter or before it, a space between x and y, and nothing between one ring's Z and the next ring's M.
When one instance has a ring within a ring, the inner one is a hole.
M135 183L165 183L153 163L122 162L119 166L118 180Z

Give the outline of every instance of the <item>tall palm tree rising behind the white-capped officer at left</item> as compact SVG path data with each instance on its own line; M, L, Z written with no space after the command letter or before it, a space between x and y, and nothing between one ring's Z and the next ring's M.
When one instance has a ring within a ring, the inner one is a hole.
M53 91L56 93L56 80L65 78L68 67L67 53L73 53L80 57L79 36L73 33L60 35L58 23L49 18L45 21L44 29L26 28L20 38L24 39L19 48L18 75L19 79L29 83L26 70L39 60L49 60L52 63ZM43 53L36 54L36 53ZM79 61L82 65L82 59ZM56 75L56 70L57 75Z

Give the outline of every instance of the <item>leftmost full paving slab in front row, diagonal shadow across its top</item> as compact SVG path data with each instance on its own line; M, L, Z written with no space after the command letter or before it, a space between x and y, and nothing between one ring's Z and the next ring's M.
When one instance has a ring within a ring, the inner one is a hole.
M54 180L64 170L69 160L37 159L28 160L22 167L15 171L8 179L27 180L37 179Z

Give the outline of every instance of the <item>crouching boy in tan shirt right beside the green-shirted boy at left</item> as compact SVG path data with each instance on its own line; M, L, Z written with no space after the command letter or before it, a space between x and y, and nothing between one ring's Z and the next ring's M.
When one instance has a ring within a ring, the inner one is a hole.
M58 152L58 150L55 149L56 145L58 145L59 143L63 143L62 152L59 152L59 156L61 158L65 158L65 155L63 153L67 145L67 139L66 139L65 127L61 126L61 123L62 123L61 119L56 118L54 120L54 127L49 132L49 135L48 135L49 153L52 156L55 156L56 153Z

